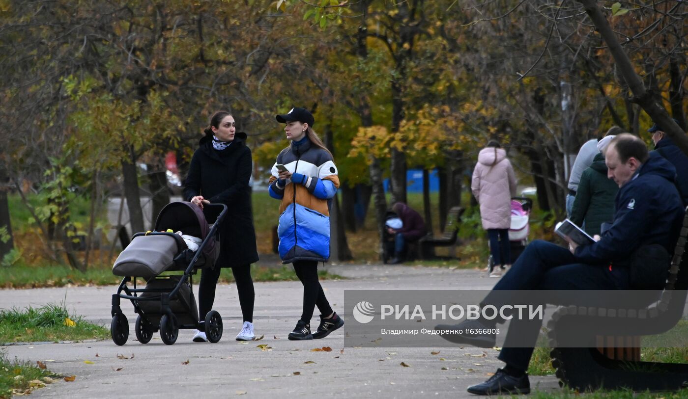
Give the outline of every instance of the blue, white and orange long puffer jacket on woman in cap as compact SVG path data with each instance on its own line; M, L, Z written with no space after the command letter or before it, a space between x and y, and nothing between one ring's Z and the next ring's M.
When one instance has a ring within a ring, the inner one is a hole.
M293 172L294 179L280 181L277 164ZM330 204L339 187L337 168L330 152L312 146L308 138L292 141L277 155L270 187L279 205L279 257L282 263L297 260L327 262L330 258ZM300 175L300 176L299 176Z

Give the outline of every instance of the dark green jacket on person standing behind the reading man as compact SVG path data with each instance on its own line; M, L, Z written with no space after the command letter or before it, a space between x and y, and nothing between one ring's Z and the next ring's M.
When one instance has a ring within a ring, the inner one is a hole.
M590 236L600 233L602 223L614 220L614 198L619 186L607 178L604 156L595 155L590 168L583 170L576 199L571 210L571 221L583 227Z

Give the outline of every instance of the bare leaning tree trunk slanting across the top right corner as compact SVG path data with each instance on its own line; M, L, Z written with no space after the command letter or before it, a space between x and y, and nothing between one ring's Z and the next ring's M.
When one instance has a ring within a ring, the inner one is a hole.
M638 73L636 73L631 60L628 58L623 47L621 47L619 39L616 38L616 34L612 30L607 18L602 13L602 10L600 10L597 1L577 1L583 4L585 12L590 16L590 20L595 25L597 32L599 32L602 39L607 43L614 57L614 61L616 61L616 66L619 68L619 72L633 92L633 102L643 107L647 115L649 115L656 124L659 124L665 129L664 132L674 141L674 144L688 155L688 136L680 126L674 122L674 119L669 117L669 113L667 113L667 110L664 108L661 98L658 98L652 91L645 89L643 80L641 80Z

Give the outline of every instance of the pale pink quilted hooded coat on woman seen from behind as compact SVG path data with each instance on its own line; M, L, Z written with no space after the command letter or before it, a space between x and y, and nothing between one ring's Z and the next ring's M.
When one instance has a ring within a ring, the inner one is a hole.
M471 191L480 203L482 228L508 229L511 224L511 197L516 195L516 176L504 148L480 150L473 170Z

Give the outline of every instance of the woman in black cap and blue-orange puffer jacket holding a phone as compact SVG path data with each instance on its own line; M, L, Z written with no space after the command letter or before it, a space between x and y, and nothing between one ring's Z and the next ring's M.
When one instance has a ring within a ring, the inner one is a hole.
M291 340L325 338L344 326L330 307L318 280L318 262L330 258L330 203L339 187L332 154L316 135L313 115L303 108L292 108L277 115L286 124L290 146L277 155L270 177L270 196L279 205L279 256L284 264L293 263L303 284L303 312ZM320 310L320 325L311 333L314 307Z

